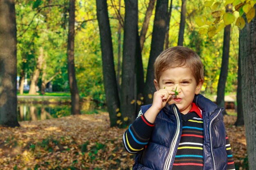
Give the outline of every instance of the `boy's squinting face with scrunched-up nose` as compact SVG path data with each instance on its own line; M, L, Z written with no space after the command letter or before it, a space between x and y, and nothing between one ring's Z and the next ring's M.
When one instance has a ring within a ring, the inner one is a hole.
M177 98L171 98L168 104L176 104L180 112L186 114L191 109L195 94L199 94L202 88L202 81L196 84L195 77L189 68L176 67L164 71L159 79L154 80L155 88L175 91L177 87Z

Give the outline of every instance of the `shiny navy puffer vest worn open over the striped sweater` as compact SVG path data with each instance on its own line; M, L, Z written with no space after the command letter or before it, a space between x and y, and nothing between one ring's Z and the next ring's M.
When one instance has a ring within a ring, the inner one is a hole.
M204 122L204 170L226 170L226 131L222 110L202 95L195 95ZM151 105L141 106L144 114ZM155 119L155 127L146 149L136 155L133 170L171 170L180 143L182 121L175 104L166 106Z

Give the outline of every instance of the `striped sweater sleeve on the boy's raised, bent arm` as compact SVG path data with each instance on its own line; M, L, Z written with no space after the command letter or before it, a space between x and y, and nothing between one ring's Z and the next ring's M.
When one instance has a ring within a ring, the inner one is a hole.
M139 111L137 119L124 132L123 143L127 152L137 154L144 150L150 139L154 124L150 123Z

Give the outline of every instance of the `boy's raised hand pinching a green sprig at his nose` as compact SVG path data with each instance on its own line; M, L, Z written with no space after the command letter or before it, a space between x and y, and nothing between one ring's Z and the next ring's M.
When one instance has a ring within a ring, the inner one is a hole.
M168 91L167 89L160 89L159 91L156 91L154 93L153 104L151 107L160 111L173 95L175 95L175 92Z

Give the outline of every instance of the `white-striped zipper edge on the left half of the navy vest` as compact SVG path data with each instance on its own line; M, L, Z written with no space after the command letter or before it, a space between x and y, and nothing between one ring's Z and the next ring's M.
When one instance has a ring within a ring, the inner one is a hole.
M170 150L169 150L167 159L164 163L164 170L168 170L171 166L171 158L173 157L173 152L175 150L175 146L177 144L177 141L178 141L178 138L179 138L179 133L180 133L180 118L179 118L179 115L178 115L178 112L177 112L177 108L174 106L173 110L174 110L175 116L177 118L177 129L176 129L176 132L174 134L173 140L171 142L171 146L170 146Z

